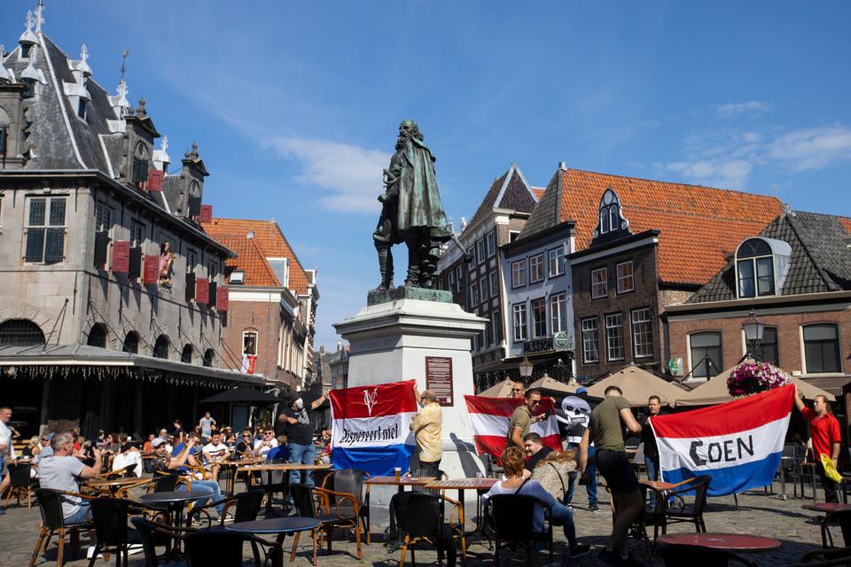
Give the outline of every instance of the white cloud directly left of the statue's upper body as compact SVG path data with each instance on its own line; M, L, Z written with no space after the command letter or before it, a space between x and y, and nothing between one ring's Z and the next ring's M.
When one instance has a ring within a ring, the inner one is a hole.
M300 137L274 137L268 146L301 165L299 179L331 194L319 199L332 211L375 213L383 190L381 172L390 162L385 151Z

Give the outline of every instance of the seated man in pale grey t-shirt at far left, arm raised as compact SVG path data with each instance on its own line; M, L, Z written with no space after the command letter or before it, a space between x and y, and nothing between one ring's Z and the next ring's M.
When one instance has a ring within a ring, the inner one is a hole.
M74 456L74 436L68 432L57 433L51 439L53 456L42 459L38 463L38 478L42 488L52 490L64 490L70 493L79 493L77 478L95 478L100 474L103 463L103 453L99 449L92 449L95 462L90 467L82 464L80 459ZM79 496L62 494L62 516L65 524L82 524L86 521L86 510L89 509L88 502L83 502Z

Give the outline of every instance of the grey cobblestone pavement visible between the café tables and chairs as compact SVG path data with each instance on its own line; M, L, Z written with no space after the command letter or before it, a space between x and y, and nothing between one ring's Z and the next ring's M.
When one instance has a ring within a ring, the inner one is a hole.
M775 486L777 490L779 486ZM589 543L592 546L592 551L589 555L577 558L563 563L563 557L566 550L566 540L557 527L554 529L555 535L555 555L554 564L571 564L571 565L597 565L597 548L605 544L606 537L611 530L612 517L608 512L608 502L605 500L605 493L600 490L603 500L599 502L604 509L601 512L590 512L585 508L584 491L578 490L576 500L574 501L575 513L574 519L576 524L576 532L582 542ZM821 494L820 494L821 496ZM468 495L468 499L470 496ZM751 492L739 495L738 498L741 509L737 510L732 497L712 498L708 504L708 511L705 515L707 528L710 532L735 532L735 533L750 533L756 535L765 535L772 538L777 538L783 542L783 547L777 551L749 555L756 563L760 565L788 565L795 563L800 559L800 556L808 551L821 548L821 535L819 526L815 518L815 512L809 512L801 509L801 504L807 501L792 500L790 496L788 501L781 500L777 493L775 495L766 495L762 492ZM475 506L467 507L469 517L474 516ZM386 512L382 514L378 507L373 507L373 533L380 532L382 526L386 525ZM14 504L10 506L4 516L0 516L0 566L12 567L18 565L27 565L30 556L35 548L35 539L40 523L39 513L36 508L28 510L26 505L23 508L17 508ZM689 524L680 524L672 526L669 532L688 532L691 531ZM835 530L838 532L838 529ZM651 533L652 536L652 533ZM836 533L834 537L841 535ZM87 538L83 537L83 546L87 545ZM292 545L292 540L287 539L287 542ZM300 551L295 562L285 563L293 566L304 566L310 564L310 539L302 537L300 542ZM652 565L660 565L659 559L650 560L644 551L644 545L637 541L630 541L632 554ZM66 546L66 557L68 557L68 546ZM247 550L247 548L246 548ZM487 543L472 544L469 555L468 565L476 567L480 565L491 565L493 555L488 548ZM333 542L332 555L325 555L320 552L320 565L364 565L371 563L374 567L395 567L399 564L400 552L395 551L392 554L387 552L387 548L381 541L373 539L371 546L363 545L363 562L359 562L355 556L355 542L350 532L335 532ZM523 556L521 553L504 553L504 565L522 565ZM246 554L246 564L253 564L248 561L249 555ZM66 559L67 561L67 559ZM104 560L99 560L96 565L113 564L114 558L110 563ZM410 564L410 555L406 564ZM417 552L418 564L437 564L437 555L433 551L422 550ZM541 565L548 564L547 555L545 552L538 554L538 562ZM46 555L42 554L38 557L36 565L55 565L56 564L56 543L51 541L51 546ZM78 555L75 561L67 562L68 565L86 565L88 562L83 559L83 555ZM130 556L130 565L141 567L144 565L144 558L141 554Z

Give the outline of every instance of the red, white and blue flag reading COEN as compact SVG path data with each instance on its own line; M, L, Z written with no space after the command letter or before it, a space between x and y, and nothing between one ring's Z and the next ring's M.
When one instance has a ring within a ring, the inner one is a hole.
M652 417L666 482L711 475L710 496L771 484L789 427L795 386L711 408Z

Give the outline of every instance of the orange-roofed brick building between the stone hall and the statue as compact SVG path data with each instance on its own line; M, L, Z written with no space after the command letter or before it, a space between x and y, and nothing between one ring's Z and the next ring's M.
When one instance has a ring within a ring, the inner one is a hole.
M224 345L230 358L269 385L308 386L319 299L316 270L303 268L275 221L214 218L203 227L238 254L225 263L230 324Z

